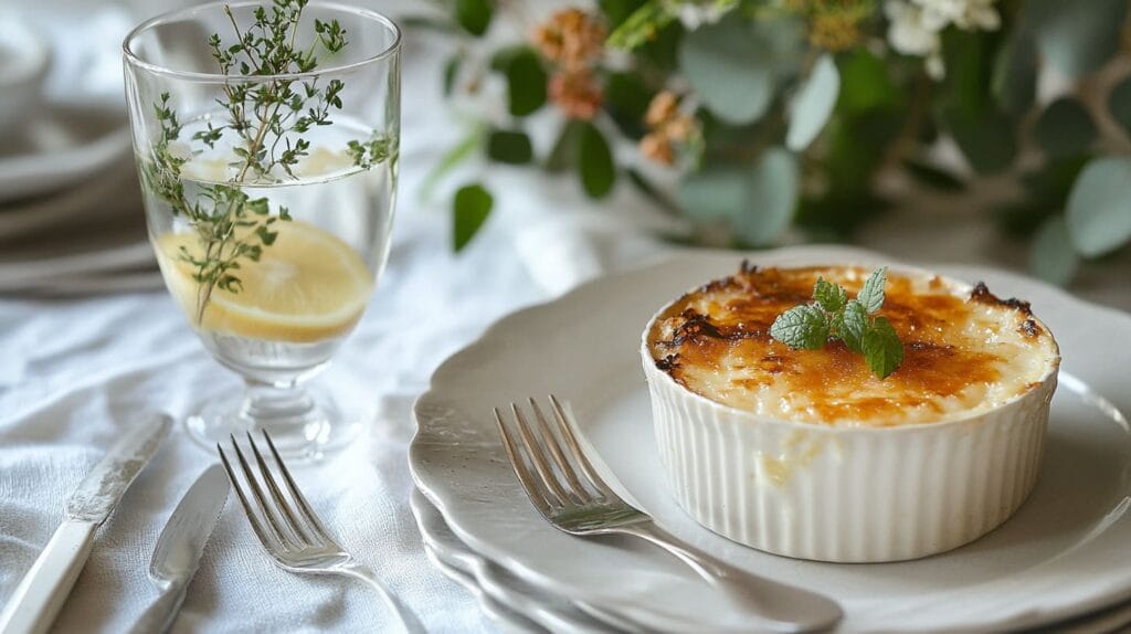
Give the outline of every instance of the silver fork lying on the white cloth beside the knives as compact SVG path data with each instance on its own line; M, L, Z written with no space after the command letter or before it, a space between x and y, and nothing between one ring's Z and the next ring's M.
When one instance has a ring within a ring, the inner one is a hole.
M377 590L386 605L397 615L405 632L409 634L423 633L424 627L412 610L381 583L372 568L355 559L348 550L343 548L318 519L318 514L299 490L294 478L291 477L291 471L283 463L278 450L275 449L275 443L271 442L271 437L266 431L264 440L267 441L267 448L275 459L282 478L276 478L271 474L267 460L264 459L264 454L259 451L250 433L248 434L248 443L251 445L251 452L259 467L259 479L256 478L251 466L248 464L248 459L239 443L235 442L234 435L232 436L232 450L235 453L239 470L243 475L242 481L236 478L235 469L232 468L232 462L224 453L224 448L219 443L216 444L219 459L224 462L224 469L232 481L232 488L235 489L240 504L251 523L251 530L259 538L264 550L275 559L279 567L290 572L337 574L364 581ZM283 480L290 498L284 495L283 488L279 487L279 479ZM266 485L268 494L264 493L259 480ZM250 492L250 500L248 492ZM252 505L252 500L254 505Z

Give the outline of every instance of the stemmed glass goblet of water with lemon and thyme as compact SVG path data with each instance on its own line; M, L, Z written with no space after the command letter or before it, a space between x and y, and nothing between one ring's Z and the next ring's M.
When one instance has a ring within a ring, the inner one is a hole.
M202 5L123 43L162 275L247 383L187 420L208 446L264 428L283 453L319 457L357 432L304 382L361 319L387 260L399 51L388 18L307 0Z

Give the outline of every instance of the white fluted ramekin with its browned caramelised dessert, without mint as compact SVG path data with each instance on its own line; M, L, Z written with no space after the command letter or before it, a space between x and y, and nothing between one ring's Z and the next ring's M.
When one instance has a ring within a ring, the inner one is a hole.
M1027 303L889 272L879 314L905 357L887 379L841 341L794 350L769 336L819 277L852 297L867 272L743 263L648 323L661 461L699 523L779 555L890 562L967 544L1028 496L1060 351Z

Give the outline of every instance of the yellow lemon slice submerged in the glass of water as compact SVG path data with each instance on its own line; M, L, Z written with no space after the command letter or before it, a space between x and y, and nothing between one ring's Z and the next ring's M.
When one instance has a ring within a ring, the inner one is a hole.
M214 288L197 328L271 341L311 342L347 333L365 309L373 279L365 262L337 236L300 220L277 223L274 244L258 262L240 260L232 271L242 287ZM200 284L196 267L181 258L184 247L199 257L204 246L192 233L156 240L165 281L193 321Z

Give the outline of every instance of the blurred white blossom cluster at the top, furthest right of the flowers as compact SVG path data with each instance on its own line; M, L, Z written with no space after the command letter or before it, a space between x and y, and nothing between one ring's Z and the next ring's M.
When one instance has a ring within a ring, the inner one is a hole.
M888 42L905 55L925 58L927 75L942 78L940 33L950 25L962 31L996 31L1001 16L998 0L888 0Z

